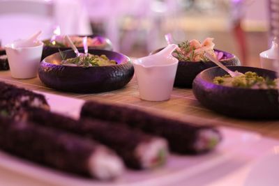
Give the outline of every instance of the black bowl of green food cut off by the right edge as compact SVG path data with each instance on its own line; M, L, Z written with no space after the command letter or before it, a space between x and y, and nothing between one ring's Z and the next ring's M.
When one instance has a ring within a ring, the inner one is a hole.
M256 72L263 77L276 78L276 72L262 68L229 66L239 72ZM220 114L239 118L279 118L278 90L235 88L213 84L216 76L226 75L219 67L209 68L197 75L193 82L193 93L205 107Z

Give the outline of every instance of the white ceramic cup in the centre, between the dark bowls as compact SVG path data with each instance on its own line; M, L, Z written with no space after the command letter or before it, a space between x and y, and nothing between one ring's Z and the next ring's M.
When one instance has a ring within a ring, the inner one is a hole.
M164 60L165 63L162 63ZM174 86L178 59L153 59L146 56L134 61L135 75L139 86L140 98L147 101L169 100Z

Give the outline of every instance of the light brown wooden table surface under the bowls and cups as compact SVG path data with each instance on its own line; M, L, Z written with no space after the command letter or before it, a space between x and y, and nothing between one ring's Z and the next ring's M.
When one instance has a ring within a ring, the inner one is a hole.
M165 102L148 102L140 100L137 90L137 80L135 77L124 88L105 93L65 93L55 91L52 88L44 86L40 79L13 79L10 71L0 72L0 81L15 84L20 87L28 88L34 91L54 93L72 98L83 100L100 100L102 102L111 102L126 104L132 107L152 111L156 114L163 114L172 118L178 118L183 121L189 121L198 124L225 125L229 127L241 128L259 132L266 137L279 139L279 121L248 121L236 118L229 118L214 111L206 109L195 99L193 91L190 88L174 88L171 99Z

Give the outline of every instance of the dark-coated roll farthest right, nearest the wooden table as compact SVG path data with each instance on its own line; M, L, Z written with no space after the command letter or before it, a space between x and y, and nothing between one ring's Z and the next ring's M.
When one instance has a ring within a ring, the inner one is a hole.
M115 125L128 125L164 137L169 148L176 153L204 153L213 149L221 139L220 132L212 126L193 125L114 104L85 102L80 115L82 118L114 121Z

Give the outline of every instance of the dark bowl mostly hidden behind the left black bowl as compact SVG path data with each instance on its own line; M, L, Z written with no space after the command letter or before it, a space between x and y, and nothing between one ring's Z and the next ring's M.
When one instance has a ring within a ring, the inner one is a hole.
M80 37L84 37L84 36L80 36ZM96 45L96 46L88 46L89 49L106 49L106 50L112 50L112 42L108 39L105 38L103 36L99 36L99 35L91 35L91 36L87 36L89 38L98 38L98 40L100 40L100 42L102 43L101 45ZM43 42L50 42L49 40L43 40ZM77 47L78 49L83 49L83 47ZM48 46L48 45L44 45L43 47L43 54L42 54L42 59L45 59L47 56L50 56L51 54L54 54L56 52L60 51L65 51L71 49L70 47L52 47L52 46Z

